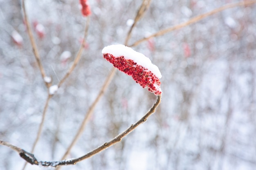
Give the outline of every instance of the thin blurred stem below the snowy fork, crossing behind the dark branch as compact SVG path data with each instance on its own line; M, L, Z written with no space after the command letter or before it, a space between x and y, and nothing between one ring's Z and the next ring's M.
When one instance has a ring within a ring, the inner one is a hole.
M47 108L49 106L49 101L50 101L51 98L52 98L52 95L50 95L48 93L48 97L47 97L47 100L45 102L45 107L44 107L44 110L43 110L43 115L42 115L42 118L41 118L41 122L40 122L40 125L39 125L39 128L38 128L38 131L37 131L36 139L34 141L34 144L32 146L32 149L31 149L30 153L34 153L34 150L36 148L36 144L38 143L39 138L42 134L43 124L45 123L45 115L46 115L46 111L47 111ZM27 162L24 164L22 170L25 170L26 166L27 166Z

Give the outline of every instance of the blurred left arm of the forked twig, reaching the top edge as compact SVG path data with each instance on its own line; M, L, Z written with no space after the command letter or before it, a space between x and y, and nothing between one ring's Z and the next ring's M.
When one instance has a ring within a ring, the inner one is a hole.
M29 34L29 40L31 42L33 53L34 53L34 55L36 57L36 63L38 64L41 76L43 78L43 81L45 82L45 86L47 88L49 88L50 87L50 83L48 83L48 82L46 82L44 80L44 78L46 77L46 74L45 74L45 70L43 68L43 64L42 64L42 62L40 60L40 55L39 55L38 49L36 47L36 42L35 42L35 39L34 39L34 35L32 33L32 30L31 30L31 25L30 25L28 17L27 17L27 11L26 11L26 7L25 7L25 0L22 0L22 9L23 9L23 15L24 15L25 24L27 26L27 32Z

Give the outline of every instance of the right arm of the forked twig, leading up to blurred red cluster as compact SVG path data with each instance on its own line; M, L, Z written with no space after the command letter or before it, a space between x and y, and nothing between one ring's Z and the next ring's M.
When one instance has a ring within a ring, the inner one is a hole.
M79 62L79 60L81 58L81 55L82 55L82 52L83 52L83 49L84 49L84 46L85 46L85 39L86 39L86 37L88 35L89 23L90 23L90 18L88 17L87 21L86 21L86 26L85 26L85 32L84 32L84 35L83 35L83 42L81 43L81 46L80 46L80 48L78 50L78 53L76 54L76 57L75 57L75 60L74 60L74 62L72 64L72 66L67 71L66 75L58 83L58 87L60 87L63 84L63 82L67 79L67 77L72 73L72 71L74 70L74 68L76 67L76 65L78 64L78 62Z

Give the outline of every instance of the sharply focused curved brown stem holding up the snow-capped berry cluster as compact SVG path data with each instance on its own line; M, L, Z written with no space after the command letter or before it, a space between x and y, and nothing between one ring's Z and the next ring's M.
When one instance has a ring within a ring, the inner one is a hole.
M39 165L39 166L56 167L56 166L62 166L62 165L76 164L77 162L87 159L89 157L92 157L93 155L96 155L97 153L116 144L117 142L120 142L126 135L128 135L130 132L135 130L135 128L137 128L140 124L144 123L148 119L148 117L155 112L155 109L157 108L157 106L160 103L161 103L161 95L157 96L157 100L156 100L155 104L152 106L152 108L150 108L150 110L148 111L148 113L146 113L146 115L144 115L141 119L139 119L139 121L137 121L135 124L132 124L129 128L127 128L121 134L117 135L117 137L115 137L114 139L110 140L109 142L104 143L103 145L99 146L99 148L96 148L96 149L92 150L91 152L88 152L86 155L83 155L82 157L79 157L76 159L69 159L69 160L62 160L62 161L38 161L36 159L36 157L34 157L33 154L31 154L21 148L18 148L17 146L13 146L4 141L0 141L0 144L15 150L16 152L19 153L20 157L22 157L23 159L25 159L27 162L31 163L32 165L35 164L35 165Z

